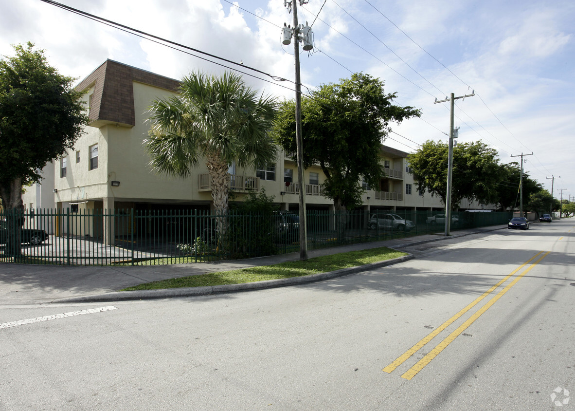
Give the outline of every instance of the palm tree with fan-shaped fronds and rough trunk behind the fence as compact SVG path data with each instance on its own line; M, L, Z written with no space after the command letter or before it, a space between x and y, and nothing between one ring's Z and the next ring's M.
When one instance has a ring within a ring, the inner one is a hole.
M277 107L275 98L258 96L240 75L190 73L178 96L152 102L150 138L144 140L150 165L160 173L187 177L205 159L214 209L225 216L229 165L259 168L275 160L277 149L267 132ZM223 222L218 221L220 235Z

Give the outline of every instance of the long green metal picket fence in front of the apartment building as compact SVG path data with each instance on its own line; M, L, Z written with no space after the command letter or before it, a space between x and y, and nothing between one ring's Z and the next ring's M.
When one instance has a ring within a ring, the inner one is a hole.
M454 213L451 230L507 224L511 212ZM306 214L308 249L443 233L442 214L371 210ZM296 212L33 210L0 214L0 262L154 265L297 252Z

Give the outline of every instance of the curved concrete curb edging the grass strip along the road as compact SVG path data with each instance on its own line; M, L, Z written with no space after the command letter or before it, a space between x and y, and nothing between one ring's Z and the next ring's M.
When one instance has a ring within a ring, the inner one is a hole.
M427 241L426 241L427 242ZM258 281L255 283L226 284L222 286L208 287L183 287L183 288L163 288L162 290L142 290L142 291L116 291L107 292L106 294L86 295L82 297L72 297L52 300L51 303L94 303L106 301L128 301L144 299L161 299L170 297L187 297L197 295L223 294L226 292L239 292L251 290L265 290L267 288L287 287L298 284L315 283L317 281L329 280L337 277L343 277L362 271L369 271L388 265L397 264L411 260L413 254L407 256L392 258L392 260L371 262L370 264L358 265L356 267L342 268L336 271L330 271L319 274L312 274L302 277L292 277L280 280Z

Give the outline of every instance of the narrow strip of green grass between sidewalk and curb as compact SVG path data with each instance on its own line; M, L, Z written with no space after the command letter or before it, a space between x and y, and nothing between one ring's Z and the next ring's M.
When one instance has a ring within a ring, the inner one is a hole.
M391 260L407 255L387 247L358 250L331 256L309 258L307 261L290 261L262 267L242 268L232 271L220 271L169 280L153 281L139 286L124 288L120 291L158 290L160 288L221 286L224 284L253 283L255 281L276 280L290 277L302 277L311 274L335 271L341 268L356 267Z

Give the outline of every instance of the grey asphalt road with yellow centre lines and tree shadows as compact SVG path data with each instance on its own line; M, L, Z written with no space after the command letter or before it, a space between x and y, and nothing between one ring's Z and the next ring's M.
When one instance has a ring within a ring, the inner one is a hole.
M30 321L0 328L0 409L568 410L574 245L554 220L304 286L1 307Z

